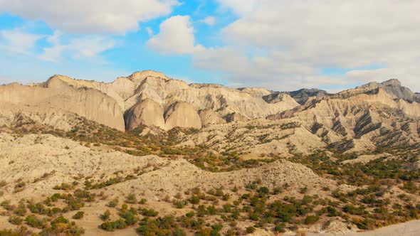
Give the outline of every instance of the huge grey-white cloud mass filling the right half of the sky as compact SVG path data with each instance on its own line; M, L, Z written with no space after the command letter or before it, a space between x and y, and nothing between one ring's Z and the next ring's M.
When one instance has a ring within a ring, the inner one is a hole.
M221 31L223 49L194 57L200 68L228 72L229 79L243 85L271 81L280 90L318 87L321 82L345 87L393 77L420 90L416 85L420 69L415 66L420 58L416 0L218 2L238 20ZM253 55L252 48L266 53ZM383 69L357 69L369 65ZM349 72L322 75L322 68Z

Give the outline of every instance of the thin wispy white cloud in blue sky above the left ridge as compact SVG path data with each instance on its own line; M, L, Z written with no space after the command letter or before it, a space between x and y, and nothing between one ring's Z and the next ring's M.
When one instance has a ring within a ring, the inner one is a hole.
M61 60L63 54L70 55L73 59L96 58L98 54L115 46L115 41L103 36L80 36L68 39L67 43L63 43L62 38L59 31L49 36L47 41L52 45L44 48L39 58L51 62Z

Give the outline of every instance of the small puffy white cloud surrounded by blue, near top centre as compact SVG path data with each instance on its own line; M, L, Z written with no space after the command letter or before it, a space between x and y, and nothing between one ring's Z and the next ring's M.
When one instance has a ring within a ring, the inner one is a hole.
M194 27L189 16L172 16L159 26L159 33L147 41L147 46L165 55L190 54L202 50L195 45Z

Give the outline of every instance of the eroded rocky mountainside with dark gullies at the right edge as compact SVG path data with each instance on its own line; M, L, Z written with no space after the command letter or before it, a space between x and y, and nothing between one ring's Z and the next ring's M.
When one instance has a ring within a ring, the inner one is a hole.
M419 103L408 102L381 87L362 86L333 97L313 98L268 119L290 119L327 144L364 151L378 145L419 143L419 117Z

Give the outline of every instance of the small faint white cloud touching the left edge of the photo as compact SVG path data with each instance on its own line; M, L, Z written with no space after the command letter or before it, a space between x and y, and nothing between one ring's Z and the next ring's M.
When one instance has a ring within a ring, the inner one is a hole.
M8 50L11 53L28 53L36 41L45 36L25 33L23 28L0 31L0 49Z

